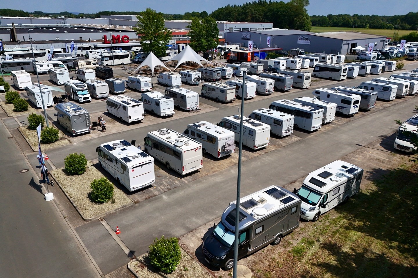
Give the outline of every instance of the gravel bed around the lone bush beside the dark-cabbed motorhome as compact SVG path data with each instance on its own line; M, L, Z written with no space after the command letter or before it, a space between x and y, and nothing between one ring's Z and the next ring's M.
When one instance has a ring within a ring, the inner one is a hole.
M190 257L183 248L181 250L181 260L176 270L171 274L158 273L154 268L149 266L148 253L138 257L136 260L131 260L128 263L128 268L136 275L136 277L147 278L213 278L212 275L206 272L199 263Z

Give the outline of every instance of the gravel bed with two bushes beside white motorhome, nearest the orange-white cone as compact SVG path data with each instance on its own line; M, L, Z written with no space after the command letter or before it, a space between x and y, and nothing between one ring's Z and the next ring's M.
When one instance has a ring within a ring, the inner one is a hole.
M132 200L125 193L113 187L113 199L104 204L93 203L89 199L90 184L94 179L102 178L103 175L99 170L94 168L91 161L87 161L86 172L82 175L66 175L64 168L51 170L54 178L59 182L61 188L69 196L71 202L78 208L79 213L84 219L94 218L110 210L120 208L122 205L132 203Z

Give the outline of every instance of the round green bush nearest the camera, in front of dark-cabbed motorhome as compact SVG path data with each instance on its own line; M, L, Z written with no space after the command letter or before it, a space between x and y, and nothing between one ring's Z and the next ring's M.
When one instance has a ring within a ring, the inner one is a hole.
M176 270L181 259L180 246L177 238L155 238L154 243L150 245L148 258L150 264L164 274L172 273Z

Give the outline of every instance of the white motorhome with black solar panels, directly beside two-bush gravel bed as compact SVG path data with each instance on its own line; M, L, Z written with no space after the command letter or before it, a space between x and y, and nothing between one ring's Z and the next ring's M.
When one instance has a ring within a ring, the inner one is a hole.
M130 192L155 183L154 158L126 140L114 140L96 148L100 167Z

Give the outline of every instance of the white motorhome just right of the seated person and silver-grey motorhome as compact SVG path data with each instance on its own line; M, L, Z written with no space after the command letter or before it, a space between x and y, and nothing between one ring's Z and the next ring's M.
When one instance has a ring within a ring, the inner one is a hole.
M125 95L110 96L106 100L107 113L115 115L120 120L132 123L144 119L144 105L139 100Z

